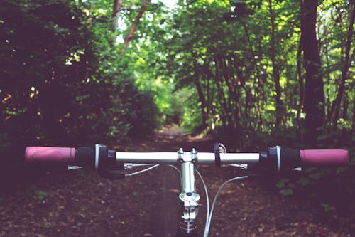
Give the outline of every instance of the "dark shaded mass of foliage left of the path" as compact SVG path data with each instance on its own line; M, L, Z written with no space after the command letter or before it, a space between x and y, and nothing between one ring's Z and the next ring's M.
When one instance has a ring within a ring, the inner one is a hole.
M114 143L155 129L153 95L138 88L112 43L109 11L95 7L88 1L2 2L2 162L21 160L28 145Z

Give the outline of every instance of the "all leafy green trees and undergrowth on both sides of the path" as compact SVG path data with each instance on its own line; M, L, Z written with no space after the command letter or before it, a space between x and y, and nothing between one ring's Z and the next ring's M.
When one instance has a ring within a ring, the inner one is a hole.
M301 91L307 85L300 85L305 68L298 53L298 2L178 1L172 12L161 2L148 4L124 54L124 37L142 1L125 1L115 32L111 4L1 3L1 159L20 160L29 144L122 142L176 123L212 132L229 148L350 149L351 167L307 169L300 179L280 180L278 187L285 196L300 189L317 196L316 190L327 190L325 183L334 194L341 183L341 191L355 195L354 80L346 80L337 129L327 120L317 147L305 144ZM320 1L318 7L329 118L344 68L350 10L351 1L344 0ZM281 108L275 102L275 72ZM354 78L353 68L348 77ZM282 120L276 126L277 113ZM332 211L332 202L322 200L321 206Z

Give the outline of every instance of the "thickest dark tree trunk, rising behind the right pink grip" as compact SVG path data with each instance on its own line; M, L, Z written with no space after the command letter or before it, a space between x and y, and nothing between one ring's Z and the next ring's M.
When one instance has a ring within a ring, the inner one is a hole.
M315 144L324 125L324 85L320 50L317 43L317 5L315 0L301 0L301 33L305 63L305 130L307 142Z

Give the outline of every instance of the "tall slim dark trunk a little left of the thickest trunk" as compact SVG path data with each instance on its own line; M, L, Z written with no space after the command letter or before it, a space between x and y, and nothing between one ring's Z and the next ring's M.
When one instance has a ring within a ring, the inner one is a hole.
M269 0L269 11L271 18L271 61L273 63L273 80L275 82L275 103L276 103L276 121L275 127L280 125L283 119L283 100L281 100L280 73L276 63L276 48L275 48L275 16L273 13L273 0Z

